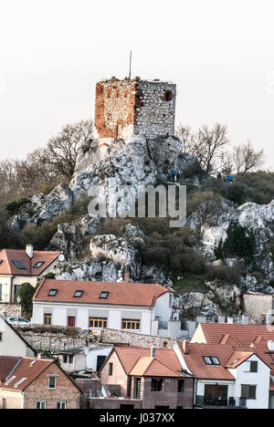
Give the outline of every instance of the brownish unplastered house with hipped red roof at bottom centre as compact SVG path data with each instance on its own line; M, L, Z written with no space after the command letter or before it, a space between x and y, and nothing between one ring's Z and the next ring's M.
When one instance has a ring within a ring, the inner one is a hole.
M183 369L174 349L114 347L100 370L118 397L142 401L142 409L192 409L195 377Z

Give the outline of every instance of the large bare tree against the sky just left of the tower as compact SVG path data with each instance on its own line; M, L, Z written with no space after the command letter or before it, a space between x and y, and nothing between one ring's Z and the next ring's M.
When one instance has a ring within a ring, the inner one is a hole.
M49 166L51 172L70 180L73 176L79 148L93 138L92 120L66 125L57 137L47 142L40 160Z

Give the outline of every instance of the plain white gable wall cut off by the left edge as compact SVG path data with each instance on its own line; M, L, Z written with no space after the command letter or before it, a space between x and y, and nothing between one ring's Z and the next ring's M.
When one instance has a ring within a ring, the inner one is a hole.
M33 358L35 355L35 350L0 315L0 356Z

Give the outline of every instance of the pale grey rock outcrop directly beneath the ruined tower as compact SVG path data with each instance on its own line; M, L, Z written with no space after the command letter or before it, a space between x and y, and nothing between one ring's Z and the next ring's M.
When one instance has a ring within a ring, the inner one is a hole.
M91 150L84 155L84 163L90 166L81 170L83 153L79 153L79 172L70 182L75 199L87 194L93 186L101 185L106 192L106 202L114 197L120 215L130 205L124 186L129 186L132 194L137 195L143 186L168 181L174 165L184 173L195 161L193 156L183 152L181 142L174 137L153 140L139 137L127 145L120 140L107 151ZM114 191L110 189L111 182L115 182Z

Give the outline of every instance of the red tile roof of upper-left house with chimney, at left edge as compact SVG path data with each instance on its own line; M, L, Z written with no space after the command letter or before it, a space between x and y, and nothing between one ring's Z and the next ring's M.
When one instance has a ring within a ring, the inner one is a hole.
M0 251L0 275L13 276L40 276L48 266L58 259L61 252L34 251L33 258L26 255L26 250L2 249ZM16 267L13 261L20 261L26 266L26 270ZM44 264L34 268L38 262Z

